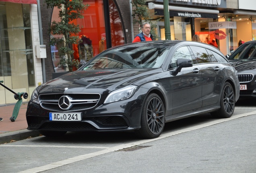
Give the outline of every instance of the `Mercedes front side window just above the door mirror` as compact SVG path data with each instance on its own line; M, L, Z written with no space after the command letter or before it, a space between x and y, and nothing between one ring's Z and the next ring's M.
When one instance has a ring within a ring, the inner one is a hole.
M175 51L175 53L173 54L173 56L171 58L171 67L172 68L177 67L176 62L178 59L188 59L188 60L191 60L191 62L193 63L192 56L191 56L187 46L180 47Z

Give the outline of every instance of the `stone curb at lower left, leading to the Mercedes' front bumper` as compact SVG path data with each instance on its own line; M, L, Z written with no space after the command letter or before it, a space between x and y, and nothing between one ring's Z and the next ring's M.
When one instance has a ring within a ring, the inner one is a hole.
M27 129L6 132L0 134L0 144L11 143L13 141L21 141L30 137L38 137L40 133L38 131L29 131Z

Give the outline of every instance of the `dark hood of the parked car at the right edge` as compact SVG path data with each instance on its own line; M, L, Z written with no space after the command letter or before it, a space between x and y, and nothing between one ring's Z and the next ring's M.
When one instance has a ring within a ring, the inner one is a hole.
M229 62L238 73L256 73L256 59L229 60Z

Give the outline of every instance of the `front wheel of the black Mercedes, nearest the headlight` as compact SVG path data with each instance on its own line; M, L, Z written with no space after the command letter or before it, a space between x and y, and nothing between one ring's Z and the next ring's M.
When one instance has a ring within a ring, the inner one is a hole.
M161 98L151 93L147 96L142 107L141 128L136 131L139 137L146 139L157 138L165 126L165 109Z

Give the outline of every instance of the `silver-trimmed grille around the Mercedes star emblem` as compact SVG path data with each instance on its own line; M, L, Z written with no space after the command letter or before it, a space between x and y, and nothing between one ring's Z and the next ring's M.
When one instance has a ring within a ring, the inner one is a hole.
M70 98L70 108L63 110L59 107L58 101L62 96ZM81 111L91 109L99 102L100 95L98 93L61 93L61 94L41 94L39 95L39 102L41 107L49 111Z

